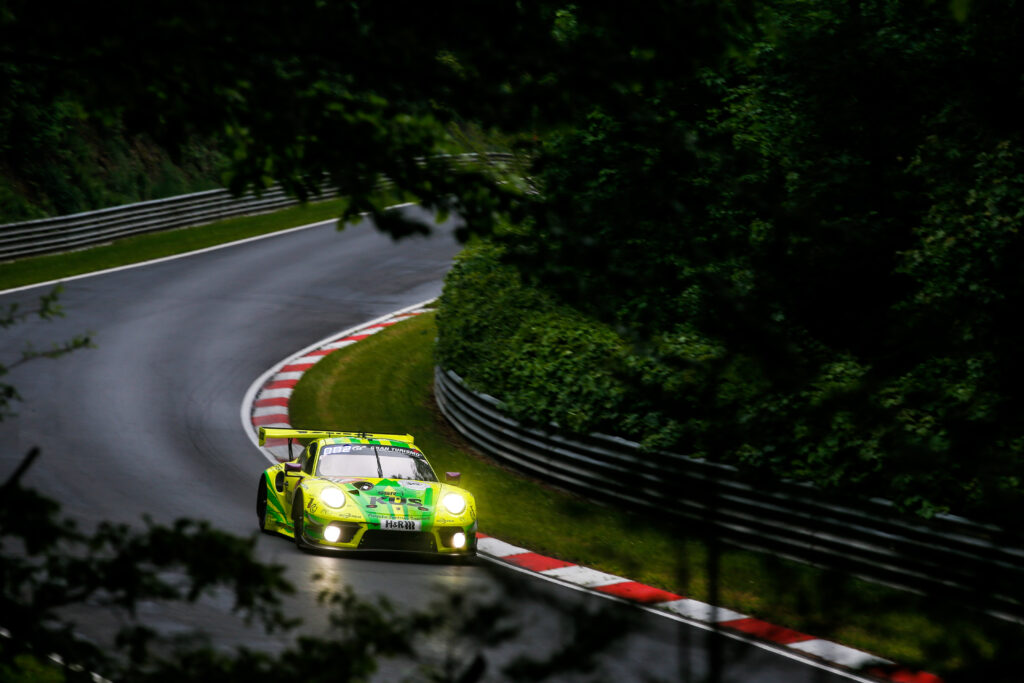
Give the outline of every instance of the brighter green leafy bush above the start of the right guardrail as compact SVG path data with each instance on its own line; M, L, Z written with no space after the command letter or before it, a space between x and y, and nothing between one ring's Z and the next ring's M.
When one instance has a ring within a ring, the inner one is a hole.
M501 396L521 422L626 432L640 419L617 377L628 345L606 325L522 283L489 244L449 273L436 354L470 386Z

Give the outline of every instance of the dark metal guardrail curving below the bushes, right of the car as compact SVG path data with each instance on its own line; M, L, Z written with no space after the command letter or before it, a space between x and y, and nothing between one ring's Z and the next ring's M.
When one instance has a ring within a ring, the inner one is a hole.
M1024 623L1024 543L943 515L907 519L885 501L838 503L808 484L762 485L727 465L641 452L614 436L566 438L526 428L500 401L437 368L437 404L493 458L597 502L672 517L738 547L847 572Z

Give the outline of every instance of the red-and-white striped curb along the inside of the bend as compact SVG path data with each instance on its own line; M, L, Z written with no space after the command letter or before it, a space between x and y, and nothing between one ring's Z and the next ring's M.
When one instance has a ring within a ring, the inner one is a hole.
M260 427L291 427L288 403L302 375L340 348L350 346L400 321L427 310L431 301L402 308L383 317L331 335L281 361L249 388L242 402L242 422L253 443L271 463L291 459L285 439L268 439L260 447ZM587 591L602 597L637 605L654 614L684 622L708 631L744 640L765 649L801 659L820 669L855 681L892 681L893 683L942 683L927 672L899 667L868 652L829 640L769 624L754 616L635 581L605 573L572 562L539 555L525 548L477 533L477 551L493 562L547 581Z

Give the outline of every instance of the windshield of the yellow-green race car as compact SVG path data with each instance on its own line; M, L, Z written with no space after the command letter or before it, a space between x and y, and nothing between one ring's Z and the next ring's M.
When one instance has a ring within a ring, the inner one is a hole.
M437 481L422 454L411 449L364 443L325 445L316 463L316 474Z

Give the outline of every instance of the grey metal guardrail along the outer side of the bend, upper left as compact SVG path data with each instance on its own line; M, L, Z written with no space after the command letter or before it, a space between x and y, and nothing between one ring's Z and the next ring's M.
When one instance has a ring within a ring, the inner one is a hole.
M446 158L456 167L471 166L479 160L478 155ZM508 154L486 155L486 164L504 164L512 160L513 156ZM389 181L385 179L380 186L387 184ZM325 184L323 193L329 197L332 188ZM0 225L0 261L81 249L132 234L202 225L221 218L267 213L298 203L280 185L264 190L260 196L249 194L241 198L226 189L210 189L68 216L8 223Z

